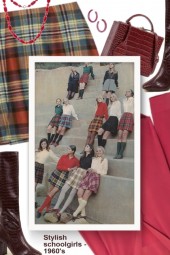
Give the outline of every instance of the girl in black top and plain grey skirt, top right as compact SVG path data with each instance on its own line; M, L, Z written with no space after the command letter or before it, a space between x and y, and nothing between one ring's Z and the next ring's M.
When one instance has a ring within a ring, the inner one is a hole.
M118 88L118 72L115 70L115 65L110 63L109 70L105 72L103 79L103 97L106 99L106 104L109 104L109 98L112 93Z

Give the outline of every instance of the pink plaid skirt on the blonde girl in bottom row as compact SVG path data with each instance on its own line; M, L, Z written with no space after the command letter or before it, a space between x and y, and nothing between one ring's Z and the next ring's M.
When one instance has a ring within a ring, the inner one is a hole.
M88 189L93 191L94 193L97 193L99 185L100 175L95 172L88 171L84 179L81 181L79 188L84 190Z

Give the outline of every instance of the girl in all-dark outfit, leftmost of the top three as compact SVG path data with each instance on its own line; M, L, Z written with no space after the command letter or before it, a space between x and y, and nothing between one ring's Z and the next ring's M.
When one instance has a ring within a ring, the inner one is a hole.
M71 74L69 76L68 80L68 99L72 99L75 95L75 93L78 92L78 86L79 86L79 73L76 71L76 69L73 67L71 69Z

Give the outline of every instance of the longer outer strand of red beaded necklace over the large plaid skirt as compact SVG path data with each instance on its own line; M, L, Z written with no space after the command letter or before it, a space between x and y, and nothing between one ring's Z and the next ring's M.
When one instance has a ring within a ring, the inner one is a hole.
M40 32L36 35L35 38L33 38L33 39L29 40L29 41L24 41L23 39L19 38L17 36L17 34L13 31L13 28L12 28L12 25L11 25L11 21L10 21L10 16L8 14L8 9L6 7L6 0L2 0L2 1L3 1L3 5L4 5L4 12L5 12L5 18L6 18L6 21L7 21L8 29L9 29L10 33L12 34L12 36L15 39L17 39L19 42L23 43L23 44L32 44L32 43L34 43L41 36L41 34L42 34L43 30L44 30L45 23L47 21L48 12L49 12L49 4L50 4L51 0L47 0L47 6L45 8L45 14L44 14L43 22L41 24Z

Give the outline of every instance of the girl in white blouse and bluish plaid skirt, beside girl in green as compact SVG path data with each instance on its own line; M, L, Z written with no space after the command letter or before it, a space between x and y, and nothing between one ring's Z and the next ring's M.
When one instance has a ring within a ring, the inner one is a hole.
M65 134L66 130L72 127L72 117L78 120L74 107L69 103L68 98L65 98L63 101L63 114L58 124L58 130L53 139L53 145L55 147L59 145L59 142L63 138L63 135Z

